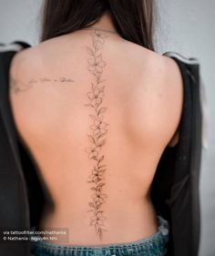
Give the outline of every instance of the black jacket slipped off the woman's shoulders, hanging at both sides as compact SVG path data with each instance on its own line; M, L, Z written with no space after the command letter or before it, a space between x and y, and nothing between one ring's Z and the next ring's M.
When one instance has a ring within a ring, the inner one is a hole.
M15 53L27 44L0 46L0 255L29 256L29 241L4 241L3 230L36 226L46 196L33 159L19 141L8 100L8 70ZM183 109L179 143L167 147L159 160L151 187L157 212L169 220L169 256L197 256L200 244L200 156L202 108L200 72L196 59L166 53L183 78Z

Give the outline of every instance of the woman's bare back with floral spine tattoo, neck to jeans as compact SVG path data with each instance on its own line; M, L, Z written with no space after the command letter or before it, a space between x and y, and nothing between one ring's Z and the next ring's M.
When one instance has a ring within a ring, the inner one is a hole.
M154 234L150 185L163 150L179 139L174 61L80 30L17 54L10 77L15 126L54 202L39 228L67 227L68 243L79 245Z

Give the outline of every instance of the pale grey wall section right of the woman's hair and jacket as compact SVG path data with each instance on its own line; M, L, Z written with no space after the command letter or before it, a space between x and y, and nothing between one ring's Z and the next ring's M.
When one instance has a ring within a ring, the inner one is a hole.
M158 2L158 1L157 1ZM209 147L200 174L200 256L215 255L215 1L160 0L159 51L178 51L200 59L210 110Z

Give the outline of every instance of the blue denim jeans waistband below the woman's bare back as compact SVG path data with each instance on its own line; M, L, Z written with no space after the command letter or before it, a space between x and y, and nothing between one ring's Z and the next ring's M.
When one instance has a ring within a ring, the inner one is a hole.
M31 241L35 256L164 256L169 241L169 223L158 215L158 231L142 240L101 246L60 245Z

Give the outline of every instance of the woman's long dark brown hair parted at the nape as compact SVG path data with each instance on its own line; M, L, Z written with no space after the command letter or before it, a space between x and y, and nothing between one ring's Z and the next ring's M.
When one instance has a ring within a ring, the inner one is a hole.
M154 50L153 0L45 0L41 41L92 26L106 11L120 36Z

